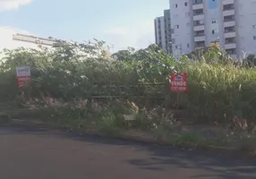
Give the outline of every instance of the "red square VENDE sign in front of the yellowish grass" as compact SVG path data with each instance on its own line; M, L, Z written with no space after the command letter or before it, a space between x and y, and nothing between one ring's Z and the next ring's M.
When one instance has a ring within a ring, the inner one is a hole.
M187 73L172 73L171 75L171 90L173 92L186 92L187 91Z

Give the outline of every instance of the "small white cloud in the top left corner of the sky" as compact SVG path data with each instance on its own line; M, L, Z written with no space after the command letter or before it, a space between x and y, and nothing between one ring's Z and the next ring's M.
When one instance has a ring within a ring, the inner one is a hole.
M30 4L32 0L0 0L0 12L19 9L21 5Z

